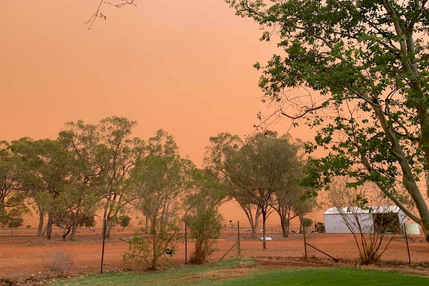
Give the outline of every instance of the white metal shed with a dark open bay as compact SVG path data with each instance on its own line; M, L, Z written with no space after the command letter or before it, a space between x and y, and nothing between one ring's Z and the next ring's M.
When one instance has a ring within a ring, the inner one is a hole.
M369 209L359 207L331 207L323 213L327 233L351 233L345 220L355 232L358 232L356 218L364 233L375 230L399 232L406 222L405 213L396 205L372 206Z

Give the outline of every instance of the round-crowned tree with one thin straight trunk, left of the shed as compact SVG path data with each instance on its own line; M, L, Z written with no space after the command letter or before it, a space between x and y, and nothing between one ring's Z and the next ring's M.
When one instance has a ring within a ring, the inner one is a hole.
M240 199L261 210L263 249L266 249L266 219L272 212L276 192L290 188L291 170L297 166L297 153L288 137L276 132L256 133L225 158L225 171Z

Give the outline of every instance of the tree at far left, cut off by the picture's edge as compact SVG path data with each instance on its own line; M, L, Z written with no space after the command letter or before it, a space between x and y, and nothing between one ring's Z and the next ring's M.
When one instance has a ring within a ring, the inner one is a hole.
M21 217L28 210L25 204L28 192L22 176L25 166L8 147L6 141L0 141L0 225Z

